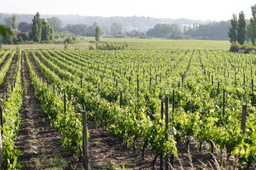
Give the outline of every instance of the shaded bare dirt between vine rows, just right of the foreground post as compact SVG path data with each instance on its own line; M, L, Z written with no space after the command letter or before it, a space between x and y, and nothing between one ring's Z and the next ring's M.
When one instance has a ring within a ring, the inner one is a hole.
M88 123L90 132L89 159L92 169L152 169L154 155L150 149L145 150L142 160L141 142L137 142L136 153L125 148L122 142L107 134L106 128L97 123ZM158 167L159 164L156 164Z

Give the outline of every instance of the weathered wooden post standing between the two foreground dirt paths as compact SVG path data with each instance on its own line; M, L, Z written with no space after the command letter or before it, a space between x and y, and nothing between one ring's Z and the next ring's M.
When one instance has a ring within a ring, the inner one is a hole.
M85 106L82 106L82 158L84 169L90 169L88 157L87 115Z

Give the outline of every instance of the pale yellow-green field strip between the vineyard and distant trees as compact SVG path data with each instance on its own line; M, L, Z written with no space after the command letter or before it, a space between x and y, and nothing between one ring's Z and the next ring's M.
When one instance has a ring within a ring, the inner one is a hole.
M78 38L78 43L68 45L68 49L88 50L94 38ZM101 42L124 43L128 50L223 50L230 48L229 41L217 40L161 40L161 39L135 39L135 38L102 38ZM3 45L3 50L14 50L17 45ZM21 50L63 50L63 44L32 44L18 45Z

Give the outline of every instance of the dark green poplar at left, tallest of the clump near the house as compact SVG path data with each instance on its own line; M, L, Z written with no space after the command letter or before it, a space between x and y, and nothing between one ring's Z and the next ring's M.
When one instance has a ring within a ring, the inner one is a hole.
M33 26L31 29L31 39L35 42L41 41L41 33L42 33L42 20L40 18L40 14L37 12L36 16L33 18Z

